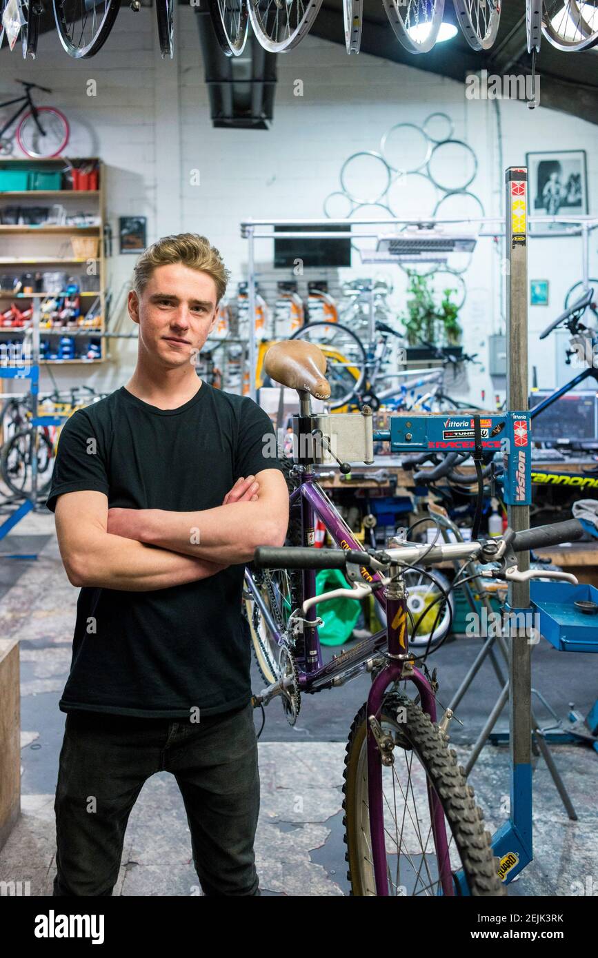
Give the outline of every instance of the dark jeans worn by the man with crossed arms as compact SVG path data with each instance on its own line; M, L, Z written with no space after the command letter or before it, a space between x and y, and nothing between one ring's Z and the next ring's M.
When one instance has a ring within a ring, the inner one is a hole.
M204 894L260 895L251 704L197 723L67 713L54 806L54 895L112 894L130 810L144 782L163 770L173 773L183 797Z

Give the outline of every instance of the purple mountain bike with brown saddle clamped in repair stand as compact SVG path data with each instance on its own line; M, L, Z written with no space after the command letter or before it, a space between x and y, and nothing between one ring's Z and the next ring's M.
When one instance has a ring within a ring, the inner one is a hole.
M324 361L317 347L305 344L300 352L296 346L277 344L276 360L266 359L265 365L275 381L298 390L301 449L310 445L310 437L317 438L318 430L311 428L311 396L321 398L328 384L321 375ZM524 551L539 539L550 544L578 538L580 523L569 521L517 536L508 530L502 539L488 541L440 545L403 541L386 550L364 550L318 485L314 456L296 455L285 465L290 545L258 548L244 573L245 611L267 683L253 696L254 706L280 697L292 725L302 696L370 673L371 692L352 723L345 757L343 809L353 894L504 895L491 835L484 831L464 769L449 749L452 714L447 710L437 720L436 671L427 670L426 653L417 656L409 650L403 574L415 568L429 575L426 567L442 559L475 559L480 564L497 562L495 579L533 578L534 571L517 570L514 550ZM341 464L343 471L347 468ZM314 548L316 515L339 548ZM316 595L315 570L329 568L343 570L351 587ZM538 578L546 575L537 573ZM553 572L549 578L570 582L573 577ZM458 582L462 584L463 577ZM359 600L369 595L380 605L387 626L324 665L318 638L322 620L314 614L316 606L338 596ZM443 596L446 601L444 590ZM439 616L441 606L439 602ZM407 696L407 682L413 683L415 698ZM403 810L398 810L398 794L403 796Z

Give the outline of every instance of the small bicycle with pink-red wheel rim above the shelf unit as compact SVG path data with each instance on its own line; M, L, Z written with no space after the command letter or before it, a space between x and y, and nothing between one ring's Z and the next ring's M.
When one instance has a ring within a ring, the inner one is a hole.
M30 83L28 80L15 82L25 87L25 93L22 97L0 103L0 108L13 106L16 103L21 104L10 119L0 126L0 154L8 156L12 153L13 139L8 139L5 134L21 117L13 134L19 148L34 159L40 157L50 159L59 156L69 141L68 120L56 106L35 106L31 95L32 90L42 90L44 93L52 93L52 90L47 86L39 86L38 83Z

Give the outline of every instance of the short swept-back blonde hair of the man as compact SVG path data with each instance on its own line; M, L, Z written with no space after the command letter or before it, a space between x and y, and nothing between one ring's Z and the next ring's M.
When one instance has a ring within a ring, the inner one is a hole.
M208 239L196 233L162 237L148 246L135 265L133 287L137 295L141 296L143 293L154 269L176 262L211 276L216 284L218 302L221 300L226 291L230 271L225 268L216 246L212 246Z

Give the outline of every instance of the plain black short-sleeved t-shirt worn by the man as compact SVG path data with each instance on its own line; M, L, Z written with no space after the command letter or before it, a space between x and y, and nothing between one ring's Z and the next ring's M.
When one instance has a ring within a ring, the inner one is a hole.
M65 422L46 505L54 512L63 492L99 490L109 507L212 509L240 476L280 468L273 437L253 399L206 382L177 409L122 386ZM189 718L195 708L210 715L246 705L243 569L150 592L81 588L61 711Z

